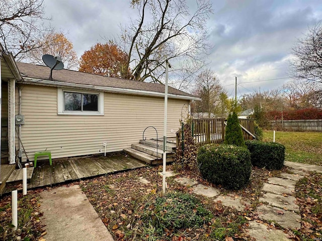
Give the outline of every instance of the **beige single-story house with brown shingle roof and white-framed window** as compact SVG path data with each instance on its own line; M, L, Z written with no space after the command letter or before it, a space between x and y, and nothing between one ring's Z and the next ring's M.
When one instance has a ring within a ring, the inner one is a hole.
M15 163L16 155L22 161L27 156L33 161L36 151L45 150L51 151L52 158L98 154L99 149L104 152L104 142L106 152L122 151L138 143L148 126L163 136L162 84L65 69L53 70L49 79L46 66L17 63L16 67L17 76L3 78L2 83L2 116L9 123L9 163ZM188 113L183 108L190 111L190 102L197 99L169 87L168 137L176 136L182 113ZM24 121L15 125L19 114ZM151 130L145 136L155 138L156 134Z

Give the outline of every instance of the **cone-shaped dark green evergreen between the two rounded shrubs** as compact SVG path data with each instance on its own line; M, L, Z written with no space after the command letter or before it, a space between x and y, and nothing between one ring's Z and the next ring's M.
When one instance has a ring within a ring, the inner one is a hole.
M246 147L243 132L239 126L238 117L235 111L228 116L225 140L223 143L227 145L236 145L238 147Z

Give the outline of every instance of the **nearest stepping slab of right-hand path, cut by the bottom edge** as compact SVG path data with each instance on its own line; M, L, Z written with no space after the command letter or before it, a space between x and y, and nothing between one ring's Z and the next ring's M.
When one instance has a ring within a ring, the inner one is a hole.
M250 235L255 237L256 240L269 240L269 241L288 241L291 240L286 237L282 230L267 229L267 226L251 221L249 226Z

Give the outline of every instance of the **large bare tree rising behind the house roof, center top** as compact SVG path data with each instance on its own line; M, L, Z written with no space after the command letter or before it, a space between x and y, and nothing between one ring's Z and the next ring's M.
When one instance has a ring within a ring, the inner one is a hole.
M163 82L166 59L173 60L171 71L180 78L193 76L187 67L200 70L205 62L198 56L210 47L206 20L212 5L207 0L196 3L191 14L185 0L132 0L138 18L122 28L121 46L128 53L127 68L133 70L133 79ZM187 66L187 60L193 67Z

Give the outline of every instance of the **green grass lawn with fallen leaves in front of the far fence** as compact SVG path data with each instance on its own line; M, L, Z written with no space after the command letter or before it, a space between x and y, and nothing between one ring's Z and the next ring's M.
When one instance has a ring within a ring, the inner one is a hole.
M273 141L273 131L264 131L263 141ZM285 146L285 161L322 165L322 133L276 132L275 141Z

